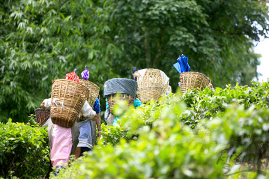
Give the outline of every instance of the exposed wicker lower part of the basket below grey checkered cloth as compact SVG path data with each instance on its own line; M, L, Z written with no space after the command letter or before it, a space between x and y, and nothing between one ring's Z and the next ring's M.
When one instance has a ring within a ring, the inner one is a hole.
M113 114L113 109L118 100L128 100L128 106L134 105L134 97L129 94L123 94L121 93L120 96L117 96L117 94L110 94L107 96L108 99L108 105L109 105L109 110Z

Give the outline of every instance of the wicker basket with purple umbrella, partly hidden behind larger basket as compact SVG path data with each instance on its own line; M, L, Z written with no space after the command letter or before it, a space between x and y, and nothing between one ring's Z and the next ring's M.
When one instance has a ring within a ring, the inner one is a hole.
M87 87L89 89L89 97L88 97L88 102L90 104L90 106L93 107L96 98L99 96L99 90L100 88L95 85L94 83L87 81L87 80L79 80L79 83L81 83L82 85L84 85L85 87Z

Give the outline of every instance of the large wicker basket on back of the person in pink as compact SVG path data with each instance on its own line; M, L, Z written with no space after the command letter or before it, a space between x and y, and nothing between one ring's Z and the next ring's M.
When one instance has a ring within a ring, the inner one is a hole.
M52 122L62 127L72 127L88 97L89 89L84 85L71 80L54 80L50 108Z

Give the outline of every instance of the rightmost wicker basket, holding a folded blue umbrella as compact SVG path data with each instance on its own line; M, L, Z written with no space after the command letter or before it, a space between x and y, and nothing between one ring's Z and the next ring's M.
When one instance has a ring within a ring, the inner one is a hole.
M188 89L203 90L208 87L209 80L204 74L199 72L183 72L179 75L180 88L183 93L187 92Z

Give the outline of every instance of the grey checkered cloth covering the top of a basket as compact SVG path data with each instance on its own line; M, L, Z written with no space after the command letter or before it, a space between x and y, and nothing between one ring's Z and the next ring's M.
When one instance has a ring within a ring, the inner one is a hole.
M135 97L137 82L130 79L110 79L104 84L104 97L115 93L125 93Z

